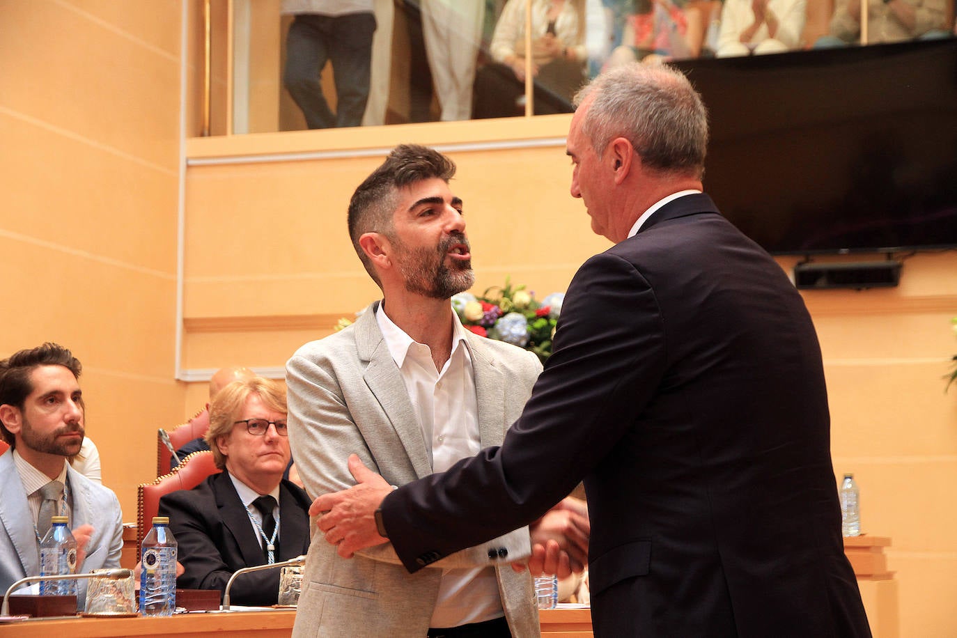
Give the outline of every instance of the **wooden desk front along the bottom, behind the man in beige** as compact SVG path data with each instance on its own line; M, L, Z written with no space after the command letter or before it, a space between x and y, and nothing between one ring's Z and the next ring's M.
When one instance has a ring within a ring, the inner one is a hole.
M589 609L545 609L539 618L542 633L549 638L591 638ZM40 619L0 625L0 638L210 638L213 633L230 638L286 638L292 635L295 620L292 609L189 613L171 618Z

